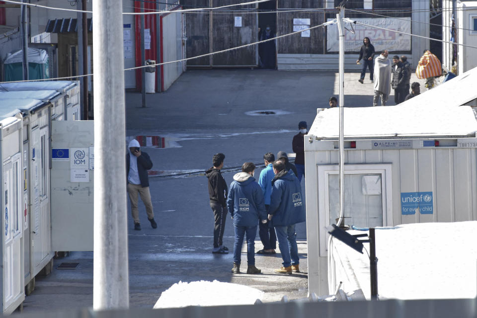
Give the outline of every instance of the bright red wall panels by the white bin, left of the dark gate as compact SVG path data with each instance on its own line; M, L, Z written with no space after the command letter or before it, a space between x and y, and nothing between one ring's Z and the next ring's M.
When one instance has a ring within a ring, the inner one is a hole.
M150 1L134 1L134 12L141 12L141 2L144 3L145 12L154 12L156 11L156 2ZM136 36L136 66L143 66L144 62L141 62L141 18L142 15L135 16L135 36ZM151 46L150 49L146 50L146 60L156 60L158 56L157 52L157 25L156 25L156 14L146 14L144 15L144 28L150 29L151 32ZM156 61L158 63L158 61ZM157 71L156 71L157 72ZM142 82L141 82L141 69L136 70L136 89L141 91ZM156 85L157 87L157 78Z

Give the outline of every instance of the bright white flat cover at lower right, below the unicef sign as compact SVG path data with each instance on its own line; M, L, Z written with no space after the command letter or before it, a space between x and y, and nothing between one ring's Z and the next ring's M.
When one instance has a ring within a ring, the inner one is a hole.
M476 221L402 224L376 228L378 293L381 299L476 297ZM367 232L350 231L350 234ZM333 239L334 258L356 280L349 286L370 297L369 258ZM369 244L364 244L369 251ZM343 278L346 279L346 278ZM339 281L340 277L336 277ZM346 285L346 284L345 284ZM343 286L345 292L347 286Z

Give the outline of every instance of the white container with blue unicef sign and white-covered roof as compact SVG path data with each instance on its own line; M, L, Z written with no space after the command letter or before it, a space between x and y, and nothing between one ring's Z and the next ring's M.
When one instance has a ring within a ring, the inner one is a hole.
M317 295L329 294L324 228L339 213L338 112L318 109L304 137L309 291ZM344 224L477 220L476 132L470 106L345 108Z

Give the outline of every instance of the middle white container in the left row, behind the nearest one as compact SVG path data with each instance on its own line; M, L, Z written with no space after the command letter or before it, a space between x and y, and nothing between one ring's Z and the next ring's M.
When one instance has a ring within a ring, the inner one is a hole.
M23 160L27 177L24 205L29 216L28 231L25 231L25 237L29 236L25 240L25 285L29 293L34 288L35 276L45 266L49 266L47 272L51 270L54 252L51 248L50 216L52 107L49 102L36 100L36 104L25 103L27 100L15 101L23 116Z

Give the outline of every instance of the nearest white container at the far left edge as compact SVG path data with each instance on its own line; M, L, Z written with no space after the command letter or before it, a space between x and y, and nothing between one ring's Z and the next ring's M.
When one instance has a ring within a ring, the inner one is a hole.
M5 109L5 105L2 105ZM7 112L17 110L8 110ZM1 313L11 314L25 299L23 292L23 164L21 119L0 116L1 157Z

